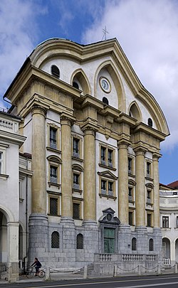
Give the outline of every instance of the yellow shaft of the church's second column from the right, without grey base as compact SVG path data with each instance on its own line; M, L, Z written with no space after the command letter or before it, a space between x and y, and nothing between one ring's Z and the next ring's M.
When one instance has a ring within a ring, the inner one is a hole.
M137 228L145 227L145 151L142 147L135 149L135 224Z

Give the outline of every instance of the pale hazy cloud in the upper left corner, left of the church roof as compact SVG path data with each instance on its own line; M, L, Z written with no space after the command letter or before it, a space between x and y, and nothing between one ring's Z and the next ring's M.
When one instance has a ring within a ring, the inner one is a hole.
M34 48L38 34L35 16L46 13L45 7L37 8L33 1L0 1L0 99ZM0 102L1 107L5 105Z

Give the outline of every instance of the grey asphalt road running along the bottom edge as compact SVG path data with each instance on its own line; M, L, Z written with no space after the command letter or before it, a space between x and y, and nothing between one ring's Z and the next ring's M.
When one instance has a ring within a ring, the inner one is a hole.
M26 282L0 284L0 288L177 288L178 275L115 277L102 279L59 280L55 282Z

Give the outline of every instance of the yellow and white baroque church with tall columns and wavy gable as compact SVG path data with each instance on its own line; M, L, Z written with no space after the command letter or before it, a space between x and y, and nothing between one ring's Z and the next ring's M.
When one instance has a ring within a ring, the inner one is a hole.
M100 273L112 273L112 264L158 265L158 161L169 128L117 39L44 41L4 100L19 121L24 164L21 255L13 261L27 265L38 257L53 268L93 263Z

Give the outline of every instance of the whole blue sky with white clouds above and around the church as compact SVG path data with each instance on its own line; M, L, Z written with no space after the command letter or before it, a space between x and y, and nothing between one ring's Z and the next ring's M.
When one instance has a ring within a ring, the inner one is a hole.
M169 126L159 182L178 180L178 0L0 0L0 107L26 57L48 38L117 38ZM8 68L8 69L7 69Z

